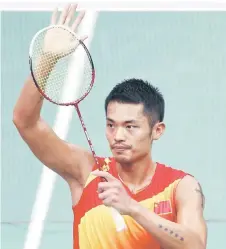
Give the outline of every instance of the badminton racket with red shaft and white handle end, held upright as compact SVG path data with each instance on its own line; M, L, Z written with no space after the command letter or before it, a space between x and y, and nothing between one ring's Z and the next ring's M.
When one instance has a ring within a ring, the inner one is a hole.
M32 38L29 64L33 81L45 99L59 106L75 107L95 162L101 170L78 106L91 91L95 80L94 64L88 48L68 27L51 25L39 30ZM82 84L76 86L76 93L71 91L66 95L64 86L69 80L70 70L78 68ZM125 229L123 217L114 208L112 216L116 230Z

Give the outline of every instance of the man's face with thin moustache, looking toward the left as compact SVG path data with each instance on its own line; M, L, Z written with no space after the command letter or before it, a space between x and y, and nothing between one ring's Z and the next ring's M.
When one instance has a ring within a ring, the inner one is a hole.
M106 137L117 162L130 164L150 152L152 136L143 104L110 102Z

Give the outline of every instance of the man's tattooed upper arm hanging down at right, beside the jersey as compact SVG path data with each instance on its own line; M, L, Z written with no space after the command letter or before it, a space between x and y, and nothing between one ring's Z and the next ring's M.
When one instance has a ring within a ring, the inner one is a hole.
M195 233L206 247L207 227L203 211L205 197L194 177L186 176L176 189L177 223Z

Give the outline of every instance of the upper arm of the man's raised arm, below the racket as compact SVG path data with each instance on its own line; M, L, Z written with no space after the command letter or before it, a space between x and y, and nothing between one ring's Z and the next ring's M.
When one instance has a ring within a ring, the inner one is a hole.
M60 139L40 119L33 127L18 129L33 154L66 181L84 184L94 165L89 151Z

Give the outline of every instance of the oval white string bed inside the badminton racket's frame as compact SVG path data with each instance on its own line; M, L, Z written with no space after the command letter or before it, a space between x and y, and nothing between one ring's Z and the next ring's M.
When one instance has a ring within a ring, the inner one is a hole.
M46 49L47 32L40 33L33 43L32 71L36 84L56 104L76 102L91 87L93 68L90 58L77 37L67 30L61 30L60 36L58 34L61 50L55 52L55 43L59 43L56 39L52 40L53 48L48 42ZM65 88L70 87L72 90L64 94Z

